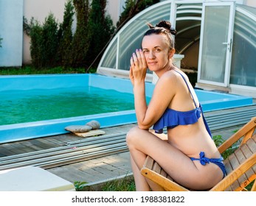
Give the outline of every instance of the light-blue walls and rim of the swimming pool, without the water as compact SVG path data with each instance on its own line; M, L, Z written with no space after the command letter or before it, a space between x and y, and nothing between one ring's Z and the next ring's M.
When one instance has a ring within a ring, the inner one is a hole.
M8 91L13 90L20 90L21 93L24 93L27 90L50 91L63 88L74 89L88 87L100 88L103 90L116 90L120 93L133 93L129 79L105 77L100 74L49 74L0 77L1 93L8 93ZM146 96L149 98L153 93L153 87L153 84L149 82L146 83ZM252 104L252 98L246 96L237 96L206 90L196 90L196 93L205 112ZM113 104L115 103L116 102L113 102ZM100 102L95 102L95 104L100 105ZM122 105L118 105L118 107L122 108ZM8 113L8 110L5 112ZM110 113L1 125L0 143L64 134L67 132L64 129L66 126L86 124L86 122L91 120L99 121L101 127L104 128L135 123L136 116L134 110L120 110Z

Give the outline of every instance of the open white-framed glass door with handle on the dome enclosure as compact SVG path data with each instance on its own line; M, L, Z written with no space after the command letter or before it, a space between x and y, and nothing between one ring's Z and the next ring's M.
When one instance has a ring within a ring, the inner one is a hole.
M203 4L198 82L227 86L232 54L234 2Z

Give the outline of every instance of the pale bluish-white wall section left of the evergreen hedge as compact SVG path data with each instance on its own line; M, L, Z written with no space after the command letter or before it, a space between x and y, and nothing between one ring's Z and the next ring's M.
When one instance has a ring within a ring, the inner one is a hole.
M23 0L0 0L0 67L21 66Z

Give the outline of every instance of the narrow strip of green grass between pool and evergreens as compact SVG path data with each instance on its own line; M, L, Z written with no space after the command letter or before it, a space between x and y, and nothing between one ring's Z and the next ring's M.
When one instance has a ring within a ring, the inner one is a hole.
M89 73L95 73L97 69L91 68ZM86 73L86 68L34 68L32 66L24 67L1 67L0 75L23 75L23 74L83 74Z

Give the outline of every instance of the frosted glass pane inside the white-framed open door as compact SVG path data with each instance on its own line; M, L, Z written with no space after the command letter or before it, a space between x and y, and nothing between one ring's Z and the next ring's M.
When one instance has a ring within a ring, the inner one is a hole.
M201 79L224 83L229 6L206 7L201 58Z

